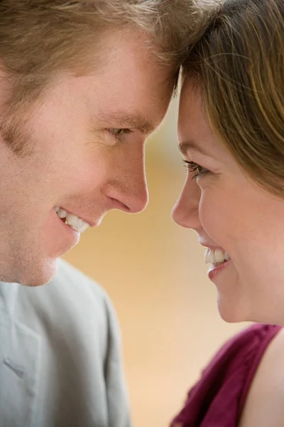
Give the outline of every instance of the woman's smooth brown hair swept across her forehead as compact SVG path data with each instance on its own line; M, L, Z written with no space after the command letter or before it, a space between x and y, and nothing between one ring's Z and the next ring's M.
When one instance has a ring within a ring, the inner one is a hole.
M183 71L201 88L212 129L236 162L284 196L284 1L214 7Z

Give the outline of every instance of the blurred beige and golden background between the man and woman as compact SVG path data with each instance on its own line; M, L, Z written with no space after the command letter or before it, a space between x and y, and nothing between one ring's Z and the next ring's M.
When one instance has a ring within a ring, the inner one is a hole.
M177 104L146 147L150 203L113 211L65 259L109 292L121 325L133 426L168 426L189 387L224 340L246 325L217 312L204 249L170 211L185 179L177 148Z

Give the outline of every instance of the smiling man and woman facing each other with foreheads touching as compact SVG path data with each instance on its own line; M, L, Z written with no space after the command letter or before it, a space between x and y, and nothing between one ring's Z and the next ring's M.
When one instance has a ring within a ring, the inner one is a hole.
M283 426L283 1L6 0L0 16L1 427L131 426L111 302L58 258L109 210L146 208L144 144L179 78L173 219L206 248L224 320L260 325L172 426Z

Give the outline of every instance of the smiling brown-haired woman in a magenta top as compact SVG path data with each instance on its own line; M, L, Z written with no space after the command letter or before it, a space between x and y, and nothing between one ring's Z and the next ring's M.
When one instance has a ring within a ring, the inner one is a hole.
M284 325L284 2L226 0L183 66L173 211L205 248L227 322ZM284 332L255 325L213 359L173 426L284 426ZM224 367L225 366L225 367Z

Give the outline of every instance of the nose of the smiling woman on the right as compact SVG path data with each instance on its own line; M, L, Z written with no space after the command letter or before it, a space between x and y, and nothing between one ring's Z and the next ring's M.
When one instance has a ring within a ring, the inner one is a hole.
M173 221L185 228L200 229L200 187L195 179L187 177L180 198L175 204L172 212Z

